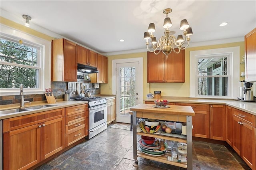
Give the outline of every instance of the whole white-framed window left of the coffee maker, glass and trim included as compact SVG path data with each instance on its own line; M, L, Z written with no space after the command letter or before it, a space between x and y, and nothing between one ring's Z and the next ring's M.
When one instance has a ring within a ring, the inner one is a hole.
M190 97L238 97L239 47L190 52Z

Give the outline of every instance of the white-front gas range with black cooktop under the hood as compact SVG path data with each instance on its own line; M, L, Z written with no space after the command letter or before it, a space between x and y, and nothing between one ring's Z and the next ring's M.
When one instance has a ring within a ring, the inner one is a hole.
M88 101L89 130L88 138L92 138L107 128L107 100L102 97L76 97L75 101Z

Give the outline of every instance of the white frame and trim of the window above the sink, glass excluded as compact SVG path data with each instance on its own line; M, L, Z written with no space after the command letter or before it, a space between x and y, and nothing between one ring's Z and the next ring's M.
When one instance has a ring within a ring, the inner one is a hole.
M45 93L44 89L51 87L51 42L32 36L30 34L21 32L14 28L4 26L1 24L0 37L6 40L18 42L20 39L24 42L25 45L31 45L39 47L40 57L38 58L38 67L40 67L38 74L38 88L28 89L24 88L24 94L43 94ZM4 63L4 62L2 62ZM30 67L30 66L28 66ZM0 96L4 95L20 95L20 89L1 89Z

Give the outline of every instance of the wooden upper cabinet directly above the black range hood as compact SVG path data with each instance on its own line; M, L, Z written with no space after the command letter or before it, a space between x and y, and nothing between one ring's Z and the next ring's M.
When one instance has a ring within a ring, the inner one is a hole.
M80 45L77 45L76 49L77 62L84 65L90 65L92 67L97 67L97 53L86 49Z

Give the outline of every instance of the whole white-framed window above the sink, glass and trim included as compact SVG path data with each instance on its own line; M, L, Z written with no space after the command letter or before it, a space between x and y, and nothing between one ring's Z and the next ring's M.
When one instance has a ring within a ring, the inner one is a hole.
M21 41L22 42L21 42ZM50 87L51 42L1 25L0 95L43 94Z

